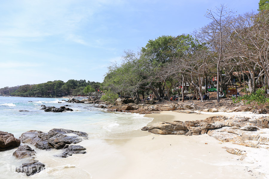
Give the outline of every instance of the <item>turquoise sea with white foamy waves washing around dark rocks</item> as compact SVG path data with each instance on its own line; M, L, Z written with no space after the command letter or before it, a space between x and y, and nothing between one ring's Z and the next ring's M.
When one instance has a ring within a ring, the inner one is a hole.
M106 150L109 147L104 143L109 140L140 137L140 129L153 120L140 114L108 112L106 109L97 108L98 104L72 104L62 100L68 99L0 96L0 131L12 133L16 138L29 130L48 132L50 129L61 128L87 132L88 139L81 143L90 146L88 153L100 148ZM45 112L41 110L42 104L54 107L68 104L74 111ZM26 159L15 158L12 154L16 149L10 149L0 152L0 179L93 178L91 169L85 171L85 166L81 167L79 163L85 154L61 158L57 156L61 150L46 151L29 146L36 151L36 159L45 164L45 170L30 177L15 172L16 167Z

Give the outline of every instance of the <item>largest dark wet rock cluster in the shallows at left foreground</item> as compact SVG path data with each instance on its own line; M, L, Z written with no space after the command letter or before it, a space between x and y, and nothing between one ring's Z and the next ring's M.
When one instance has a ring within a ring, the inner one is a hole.
M67 134L76 134L68 136ZM65 135L66 134L66 135ZM30 143L39 149L63 149L68 147L67 144L79 143L82 138L87 138L87 133L67 129L51 129L48 133L30 130L23 133L19 139L22 143ZM80 137L82 138L80 138Z

